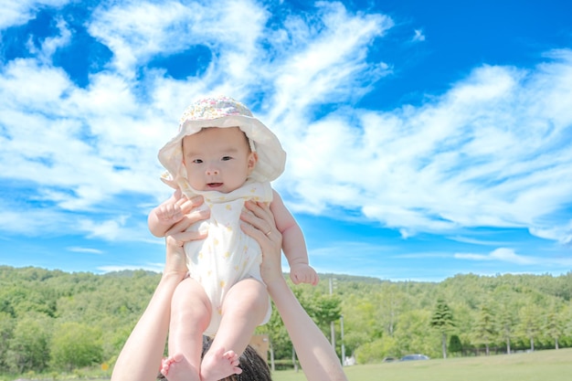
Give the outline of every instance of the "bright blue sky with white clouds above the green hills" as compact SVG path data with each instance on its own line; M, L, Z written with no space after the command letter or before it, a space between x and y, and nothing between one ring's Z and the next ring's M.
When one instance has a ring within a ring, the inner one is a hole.
M319 272L572 270L567 1L0 5L0 264L161 270L156 153L227 94Z

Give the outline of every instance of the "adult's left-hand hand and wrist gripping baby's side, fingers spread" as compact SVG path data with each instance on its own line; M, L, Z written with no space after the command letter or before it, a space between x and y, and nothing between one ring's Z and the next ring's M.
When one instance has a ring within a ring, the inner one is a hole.
M204 202L202 196L186 201L191 203L191 211L165 233L166 261L164 274L176 273L181 279L186 275L185 242L207 238L207 231L186 231L191 225L210 216L210 209L197 209Z

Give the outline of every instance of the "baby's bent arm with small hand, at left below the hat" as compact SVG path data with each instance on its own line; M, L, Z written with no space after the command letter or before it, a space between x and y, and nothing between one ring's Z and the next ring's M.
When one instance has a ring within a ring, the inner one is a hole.
M179 222L190 211L189 200L177 189L173 196L149 213L147 224L155 237L164 237L169 228Z

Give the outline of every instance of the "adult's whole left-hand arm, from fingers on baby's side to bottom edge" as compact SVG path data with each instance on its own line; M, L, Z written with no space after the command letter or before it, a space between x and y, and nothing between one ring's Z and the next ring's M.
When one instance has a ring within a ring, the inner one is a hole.
M202 204L196 197L194 206ZM113 368L111 381L154 381L161 365L169 329L171 298L176 286L185 278L183 243L202 239L205 233L185 232L191 224L208 217L208 210L193 211L167 231L166 259L163 275L151 301L133 328Z

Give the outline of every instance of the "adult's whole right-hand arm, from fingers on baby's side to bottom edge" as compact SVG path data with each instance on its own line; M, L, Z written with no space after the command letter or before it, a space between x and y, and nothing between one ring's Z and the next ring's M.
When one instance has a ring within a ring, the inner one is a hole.
M347 381L334 349L302 308L282 275L282 237L275 226L270 207L253 202L247 202L245 206L249 212L242 214L242 228L260 244L262 279L290 334L306 378L308 381ZM270 234L265 234L269 231Z

